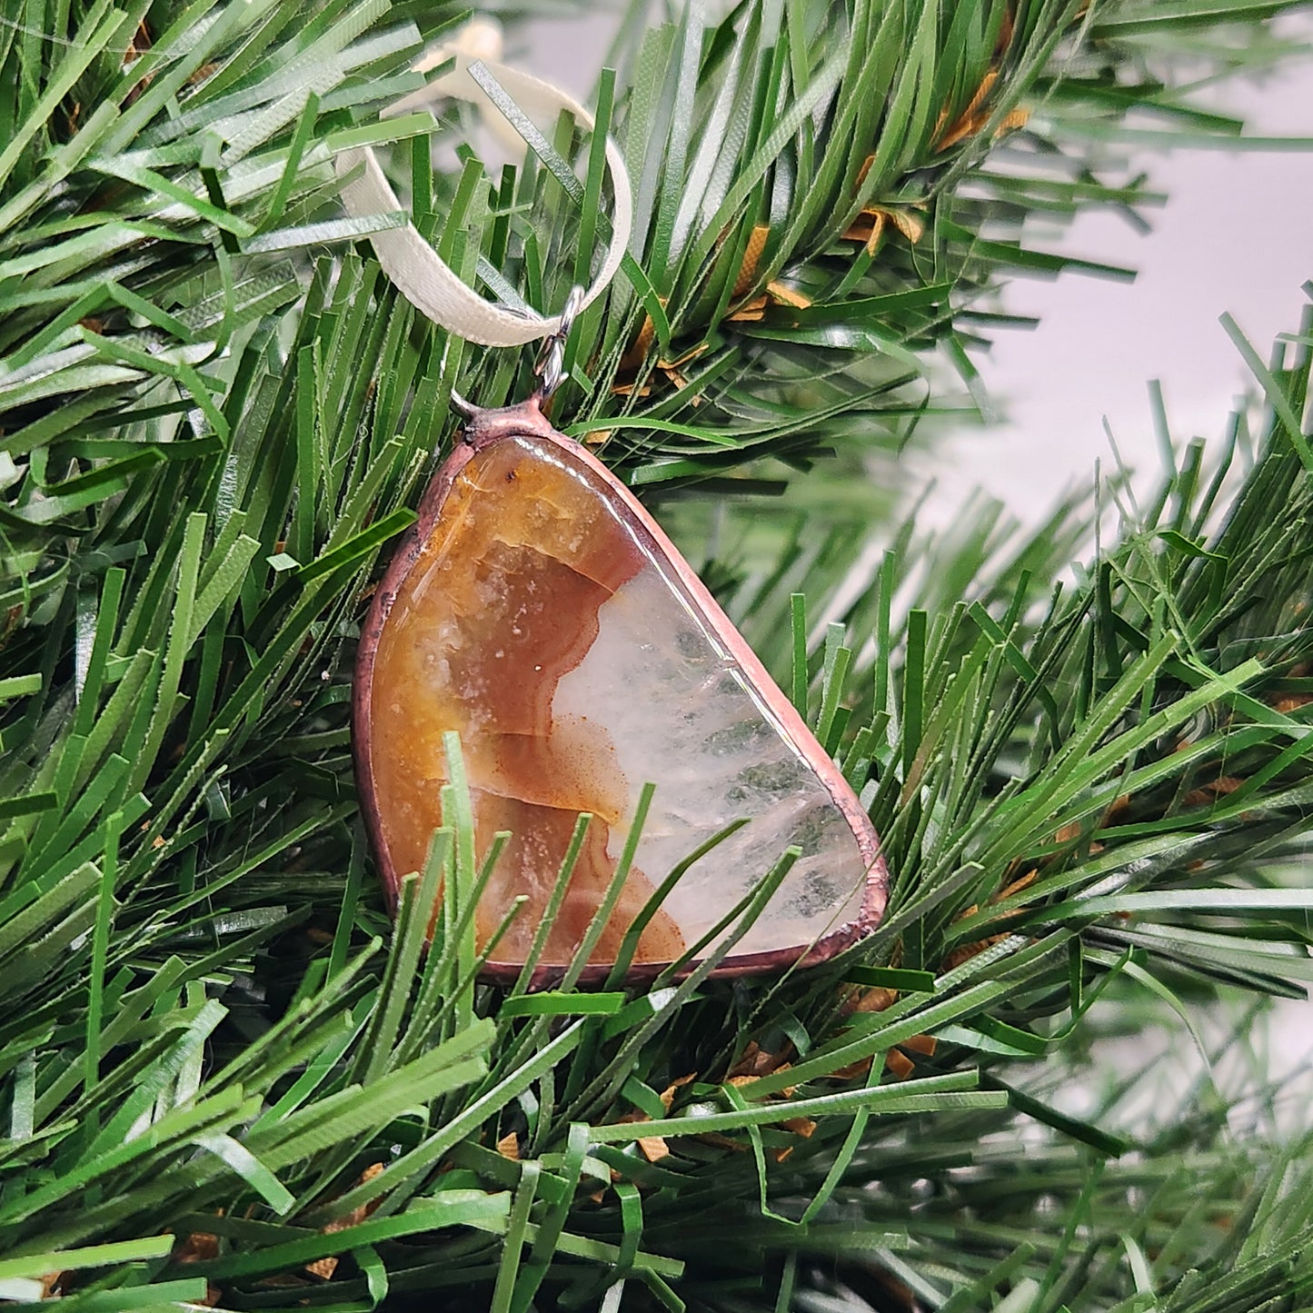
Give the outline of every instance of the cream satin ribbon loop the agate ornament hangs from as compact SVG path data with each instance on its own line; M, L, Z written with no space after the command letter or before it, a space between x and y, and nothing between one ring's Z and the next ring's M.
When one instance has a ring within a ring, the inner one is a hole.
M484 53L491 54L499 46L500 34L490 24L479 21L469 24L454 42L429 51L414 66L418 72L425 72L454 56L456 67L420 91L411 92L411 95L389 105L383 110L383 116L404 114L448 97L467 100L479 106L490 123L502 129L499 135L504 139L509 127L508 121L470 75L470 66L482 63L529 118L554 121L557 114L565 109L583 127L591 129L593 126L593 118L583 105L558 87L482 58ZM517 133L512 133L512 139L516 146L524 147ZM633 197L624 156L609 137L605 148L607 165L611 169L614 192L612 238L607 257L597 270L597 277L584 293L583 306L596 301L616 276L629 246L629 231L633 226ZM402 209L402 204L385 177L374 152L368 147L358 151L343 151L337 156L337 176L344 177L360 169L361 165L364 165L364 172L343 188L343 201L347 210L353 215L362 215ZM481 343L484 347L520 347L524 343L549 337L561 328L561 315L527 315L484 301L457 277L456 272L424 240L414 223L374 232L369 240L373 243L378 263L397 285L397 290L416 310L460 337Z

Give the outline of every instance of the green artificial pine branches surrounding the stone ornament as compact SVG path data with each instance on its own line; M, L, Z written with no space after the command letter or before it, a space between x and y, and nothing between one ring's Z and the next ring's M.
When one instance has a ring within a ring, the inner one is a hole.
M1149 499L935 536L895 474L978 395L1007 277L1082 268L1031 221L1153 204L1134 133L1242 144L1188 89L1288 55L1288 8L628 17L595 102L635 234L554 421L679 527L892 897L813 970L709 979L725 944L586 990L580 953L534 993L475 979L460 744L394 923L348 723L452 390L520 399L532 352L398 298L361 239L399 219L344 217L334 161L378 147L471 285L548 312L607 235L600 138L507 102L533 154L488 173L457 109L381 119L441 4L4 7L0 1299L1313 1306L1306 1117L1260 1069L1146 1112L1103 1056L1211 1007L1221 1062L1313 979L1313 312L1241 340L1260 406Z

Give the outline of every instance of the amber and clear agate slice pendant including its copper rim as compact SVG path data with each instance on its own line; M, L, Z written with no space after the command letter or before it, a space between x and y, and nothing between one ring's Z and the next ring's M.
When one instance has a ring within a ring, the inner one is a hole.
M697 943L790 844L801 859L720 974L810 965L872 930L888 877L852 789L656 523L536 400L475 411L424 494L361 635L356 760L389 897L441 823L456 730L477 843L512 839L477 909L482 944L528 903L484 974L520 972L580 811L583 851L536 979L570 961L616 871L639 790L637 859L584 979L676 863L696 861L630 976Z

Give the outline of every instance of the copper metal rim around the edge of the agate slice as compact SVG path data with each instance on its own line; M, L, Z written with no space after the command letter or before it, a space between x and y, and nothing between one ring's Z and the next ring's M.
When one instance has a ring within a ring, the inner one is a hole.
M520 406L511 406L503 410L473 410L466 418L462 432L463 440L457 444L452 454L442 462L425 488L416 523L407 530L378 584L361 630L352 691L356 777L360 786L361 809L378 861L389 909L395 914L400 874L406 872L394 869L383 836L376 788L372 695L379 639L382 638L398 592L402 590L407 575L411 572L431 537L457 477L474 456L484 452L496 442L515 437L530 437L551 444L591 470L604 484L612 499L611 509L618 515L637 540L662 558L664 565L679 578L683 587L699 605L701 621L714 632L716 638L725 646L734 660L738 662L742 671L755 687L756 695L785 731L786 741L805 758L807 765L829 793L834 806L847 822L856 840L861 860L865 864L867 874L860 907L856 915L851 916L846 923L815 939L810 945L727 956L712 974L717 977L733 977L783 970L789 966L813 966L826 961L835 953L856 943L864 935L868 935L876 928L884 914L888 899L888 871L880 853L880 840L874 827L847 780L844 780L839 768L806 727L793 704L771 679L756 654L748 647L656 521L595 456L551 427L540 408L538 398L530 398ZM709 859L714 860L714 853L709 855ZM693 970L696 965L696 960L691 961L681 969L681 974ZM626 976L630 979L650 979L668 966L668 961L639 961L629 968ZM521 962L490 961L481 972L481 978L496 983L511 983L519 978L521 969ZM565 970L563 965L540 965L533 973L532 986L538 989L551 985L562 977ZM583 969L579 978L583 983L597 983L605 979L609 972L611 965L608 962L593 961Z

